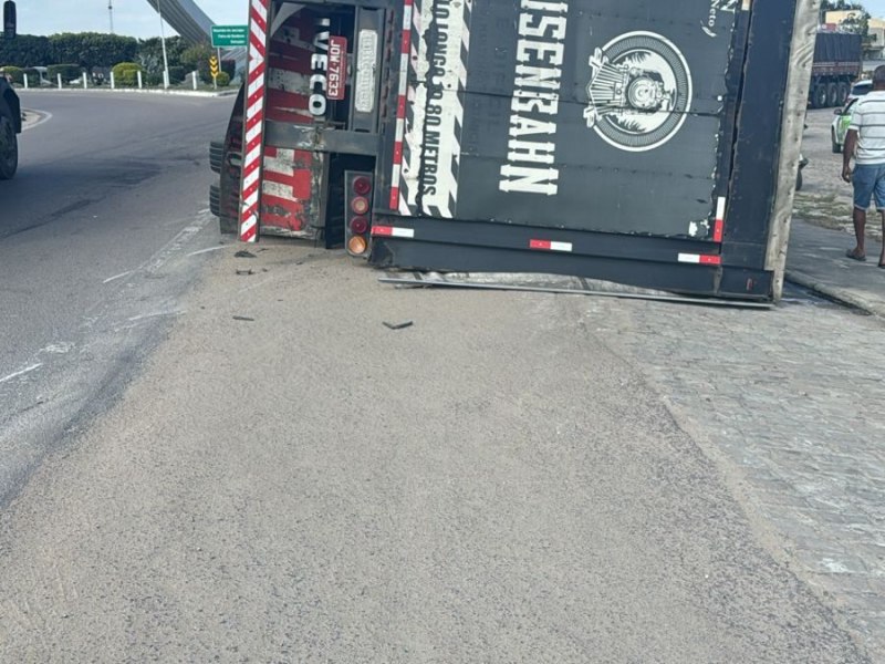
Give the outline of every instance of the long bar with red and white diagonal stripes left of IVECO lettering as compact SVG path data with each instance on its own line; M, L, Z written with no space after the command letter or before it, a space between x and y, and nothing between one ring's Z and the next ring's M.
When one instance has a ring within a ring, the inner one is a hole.
M264 81L268 63L268 4L249 2L249 73L246 90L246 125L240 187L240 240L258 240L261 193L261 148L264 143Z

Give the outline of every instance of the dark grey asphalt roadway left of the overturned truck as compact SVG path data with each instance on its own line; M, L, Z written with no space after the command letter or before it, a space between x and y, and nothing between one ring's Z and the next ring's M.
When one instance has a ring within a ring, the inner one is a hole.
M208 142L232 97L25 92L0 183L0 506L119 394L218 241Z

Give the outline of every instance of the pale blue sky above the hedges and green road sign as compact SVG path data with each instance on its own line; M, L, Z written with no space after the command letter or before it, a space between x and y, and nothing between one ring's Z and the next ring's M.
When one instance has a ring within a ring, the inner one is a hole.
M247 0L196 0L206 14L220 25L244 24ZM885 0L882 0L885 2ZM159 37L157 12L147 0L15 0L19 33L107 32L107 6L114 7L114 32L140 39ZM166 25L166 37L175 31Z

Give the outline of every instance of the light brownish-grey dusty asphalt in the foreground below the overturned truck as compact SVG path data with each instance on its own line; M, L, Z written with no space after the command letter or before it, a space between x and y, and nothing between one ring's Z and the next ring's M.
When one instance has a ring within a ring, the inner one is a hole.
M0 660L868 662L668 409L688 390L644 375L673 350L621 342L668 311L683 329L649 346L716 356L704 310L233 252L0 515ZM784 320L710 317L739 338Z

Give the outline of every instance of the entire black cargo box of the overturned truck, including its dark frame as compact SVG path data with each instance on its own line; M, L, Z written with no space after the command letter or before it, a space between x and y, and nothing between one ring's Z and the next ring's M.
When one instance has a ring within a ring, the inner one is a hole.
M373 264L774 297L808 2L402 1Z

